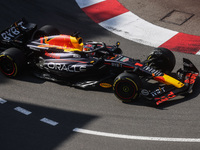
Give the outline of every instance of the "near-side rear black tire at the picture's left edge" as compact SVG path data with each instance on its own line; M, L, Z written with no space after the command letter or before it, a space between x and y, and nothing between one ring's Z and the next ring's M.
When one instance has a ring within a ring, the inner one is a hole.
M7 77L15 77L25 64L24 53L17 48L9 48L0 54L0 71Z

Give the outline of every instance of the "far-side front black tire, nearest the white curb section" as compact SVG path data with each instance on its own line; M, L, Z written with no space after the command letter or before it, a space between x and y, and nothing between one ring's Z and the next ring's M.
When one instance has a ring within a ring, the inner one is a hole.
M155 48L153 52L147 57L149 62L147 65L161 70L164 73L171 73L176 64L174 54L166 48Z

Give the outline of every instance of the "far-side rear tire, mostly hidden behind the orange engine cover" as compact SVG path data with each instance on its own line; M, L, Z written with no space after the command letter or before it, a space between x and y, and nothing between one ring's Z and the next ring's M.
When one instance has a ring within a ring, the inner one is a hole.
M54 26L45 25L35 32L33 39L38 39L44 36L59 35L59 34L60 34L60 31Z

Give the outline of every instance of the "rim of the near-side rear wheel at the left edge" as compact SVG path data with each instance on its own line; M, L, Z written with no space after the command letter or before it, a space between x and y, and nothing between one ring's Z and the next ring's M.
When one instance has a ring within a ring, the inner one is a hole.
M12 76L16 70L15 63L10 58L2 56L0 57L0 70L3 74Z

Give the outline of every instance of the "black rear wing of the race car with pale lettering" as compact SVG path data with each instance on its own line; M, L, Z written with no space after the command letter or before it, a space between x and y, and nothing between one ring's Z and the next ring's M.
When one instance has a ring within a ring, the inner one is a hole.
M36 24L27 22L24 18L14 22L10 27L0 32L0 41L12 41L29 31L35 30Z

